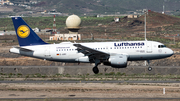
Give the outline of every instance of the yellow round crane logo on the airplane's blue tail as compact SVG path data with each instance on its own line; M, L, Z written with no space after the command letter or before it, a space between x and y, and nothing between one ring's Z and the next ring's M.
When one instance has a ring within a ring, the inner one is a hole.
M26 25L21 25L17 29L17 34L21 38L26 38L29 36L30 30L29 27Z

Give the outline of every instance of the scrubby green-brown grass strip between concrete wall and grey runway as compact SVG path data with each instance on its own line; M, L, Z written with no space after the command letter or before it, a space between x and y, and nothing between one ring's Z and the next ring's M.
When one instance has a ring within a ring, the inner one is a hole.
M59 80L82 80L82 81L109 81L109 80L117 80L117 81L129 81L129 80L153 80L153 81L179 81L180 75L151 75L151 74L131 74L128 75L126 73L121 72L110 72L105 74L96 74L96 75L70 75L70 74L55 74L55 75L42 75L39 73L36 74L28 74L28 75L22 75L20 73L18 74L4 74L0 73L0 81L4 80L13 80L14 78L22 78L22 80L33 80L34 78L39 78L40 80L51 80L51 81L59 81ZM24 78L24 79L23 79ZM36 80L36 79L34 79Z

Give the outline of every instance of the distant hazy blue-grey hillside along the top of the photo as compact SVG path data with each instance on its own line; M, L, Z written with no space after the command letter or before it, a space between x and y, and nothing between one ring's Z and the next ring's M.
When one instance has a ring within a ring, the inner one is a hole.
M24 0L10 0L12 2ZM180 9L179 0L37 0L32 10L52 10L68 14L115 14L139 9L151 9L162 12L163 3L166 11Z

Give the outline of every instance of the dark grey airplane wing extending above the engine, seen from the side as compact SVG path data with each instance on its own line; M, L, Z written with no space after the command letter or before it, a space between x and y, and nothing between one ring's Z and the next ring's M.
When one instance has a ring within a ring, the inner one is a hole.
M91 59L99 59L99 60L106 60L109 58L110 54L95 50L86 46L83 46L81 44L73 44L75 47L77 47L77 51L79 53L83 53L85 56L88 56Z

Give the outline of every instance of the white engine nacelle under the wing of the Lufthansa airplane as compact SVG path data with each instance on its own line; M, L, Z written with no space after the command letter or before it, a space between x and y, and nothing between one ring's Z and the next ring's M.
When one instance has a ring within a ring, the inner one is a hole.
M127 67L127 56L122 54L110 56L109 62L104 62L104 65L114 68L125 68Z

